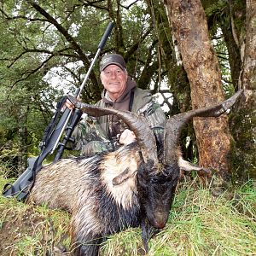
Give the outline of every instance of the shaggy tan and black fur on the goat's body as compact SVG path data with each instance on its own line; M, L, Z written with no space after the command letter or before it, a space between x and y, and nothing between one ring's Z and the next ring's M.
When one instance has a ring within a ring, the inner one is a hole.
M72 214L70 227L73 242L77 243L76 254L97 255L97 244L104 236L141 223L136 176L141 158L137 149L133 143L89 159L63 159L38 172L29 201ZM125 172L127 166L133 177L113 185L113 178Z

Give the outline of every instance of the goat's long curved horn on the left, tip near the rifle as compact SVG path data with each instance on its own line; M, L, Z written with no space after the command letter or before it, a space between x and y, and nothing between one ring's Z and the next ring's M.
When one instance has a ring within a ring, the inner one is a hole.
M143 154L143 160L154 160L154 165L158 164L157 149L155 143L154 132L147 125L147 119L142 115L136 113L121 111L114 108L101 108L94 105L79 102L73 96L67 96L70 102L73 102L75 108L79 108L84 113L88 113L92 116L99 117L102 115L115 114L122 119L134 132L137 137L137 143L140 146Z

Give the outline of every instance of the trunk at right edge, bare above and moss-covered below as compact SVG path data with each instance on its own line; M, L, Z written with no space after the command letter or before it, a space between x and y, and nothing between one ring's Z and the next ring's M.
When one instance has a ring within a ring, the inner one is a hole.
M256 1L247 0L246 40L241 87L243 98L232 118L236 139L234 162L239 174L256 178Z

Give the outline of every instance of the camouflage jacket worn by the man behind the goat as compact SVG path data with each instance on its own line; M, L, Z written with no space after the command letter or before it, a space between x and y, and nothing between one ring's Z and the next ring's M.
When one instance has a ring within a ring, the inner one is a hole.
M160 108L160 105L154 102L149 90L142 90L135 86L130 86L128 89L128 99L131 102L133 97L131 112L143 113L148 119L151 128L155 132L163 131L166 123L166 115ZM106 92L102 92L102 100L96 105L104 108L116 108L128 110L127 104L120 103L117 106L104 96ZM133 94L133 96L131 96ZM125 107L124 107L125 105ZM94 118L85 116L73 132L74 143L73 149L79 150L80 155L91 156L104 151L114 150L118 144L119 134L127 127L120 119L115 119L112 115Z

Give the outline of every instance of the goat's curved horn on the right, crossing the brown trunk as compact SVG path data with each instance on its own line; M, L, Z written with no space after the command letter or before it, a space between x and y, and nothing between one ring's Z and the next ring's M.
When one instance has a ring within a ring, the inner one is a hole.
M243 90L238 90L234 96L231 96L228 100L218 103L215 106L207 108L193 109L188 112L179 113L168 119L166 123L166 131L164 136L164 161L166 164L170 164L170 160L173 160L173 155L176 154L176 148L178 145L178 139L180 137L183 125L185 125L193 117L218 117L231 108L241 96Z

